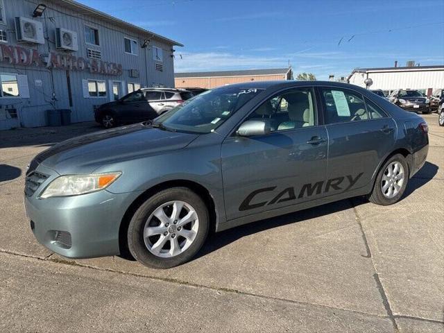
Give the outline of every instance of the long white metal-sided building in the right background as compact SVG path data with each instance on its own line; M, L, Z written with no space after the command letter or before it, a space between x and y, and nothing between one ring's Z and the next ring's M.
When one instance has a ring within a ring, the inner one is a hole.
M370 89L384 92L418 89L430 95L434 89L444 88L444 65L355 69L348 77L348 83L366 87L366 78L373 80Z

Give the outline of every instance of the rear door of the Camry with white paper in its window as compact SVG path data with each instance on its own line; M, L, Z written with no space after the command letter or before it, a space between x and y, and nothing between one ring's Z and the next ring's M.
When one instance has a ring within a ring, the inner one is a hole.
M329 137L327 178L341 180L330 194L364 187L395 144L395 121L355 90L320 90Z

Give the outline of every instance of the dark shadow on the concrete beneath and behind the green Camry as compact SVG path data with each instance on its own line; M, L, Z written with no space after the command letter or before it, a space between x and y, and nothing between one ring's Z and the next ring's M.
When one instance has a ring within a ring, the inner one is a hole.
M416 175L413 177L414 181L409 181L407 189L405 190L401 200L412 194L413 191L416 191L416 189L419 189L420 187L427 184L427 182L432 180L437 171L438 166L436 164L425 162L424 167L422 167L420 171L418 171L418 173L416 173ZM273 217L271 219L248 223L246 225L241 225L237 228L232 228L223 232L213 232L209 235L207 241L205 241L203 248L199 251L196 257L194 257L194 259L208 255L213 251L218 250L219 248L223 248L224 246L227 246L228 244L250 234L282 227L283 225L287 225L290 223L298 223L309 219L316 219L317 217L334 214L336 212L348 210L352 207L357 207L366 203L368 203L366 197L357 196L352 199L340 200L334 203L328 203L326 205L309 208L307 210L301 210L299 212L285 214L282 216Z

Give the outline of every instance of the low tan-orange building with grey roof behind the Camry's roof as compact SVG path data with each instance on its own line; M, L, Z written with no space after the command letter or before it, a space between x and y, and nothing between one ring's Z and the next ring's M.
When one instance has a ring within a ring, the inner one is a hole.
M223 85L251 81L292 80L293 72L289 68L249 69L241 71L200 71L195 73L176 73L176 87L199 87L212 89Z

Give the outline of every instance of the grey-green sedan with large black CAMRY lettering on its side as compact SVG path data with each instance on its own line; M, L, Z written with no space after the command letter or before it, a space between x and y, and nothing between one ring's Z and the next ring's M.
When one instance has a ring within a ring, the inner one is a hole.
M425 164L427 131L422 117L356 85L228 85L153 122L43 151L26 171L26 216L37 241L65 257L129 248L169 268L191 260L210 230L354 196L398 202Z

